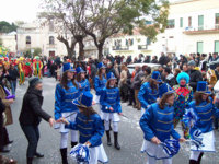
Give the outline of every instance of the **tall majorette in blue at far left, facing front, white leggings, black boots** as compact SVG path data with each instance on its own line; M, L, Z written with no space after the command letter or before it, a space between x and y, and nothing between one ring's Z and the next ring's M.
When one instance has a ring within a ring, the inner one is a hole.
M68 133L69 129L65 128L64 124L59 122L59 119L62 117L68 117L68 120L74 121L77 113L79 112L78 107L72 104L72 99L79 97L79 91L77 84L74 83L74 70L70 63L65 63L62 67L62 78L61 82L56 85L55 92L55 119L57 125L55 128L60 129L61 139L60 139L60 153L62 159L62 164L68 164L67 161L67 144L68 144ZM71 131L71 147L74 147L78 143L78 132L76 130Z

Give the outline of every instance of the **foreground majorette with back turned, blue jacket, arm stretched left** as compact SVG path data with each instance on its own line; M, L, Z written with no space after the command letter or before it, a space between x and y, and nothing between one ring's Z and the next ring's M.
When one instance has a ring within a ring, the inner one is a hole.
M90 92L84 92L79 98L72 103L78 106L79 114L76 121L68 121L62 118L66 128L79 130L79 143L89 147L90 160L89 164L107 163L108 159L102 144L104 134L104 125L101 117L92 108L93 95Z

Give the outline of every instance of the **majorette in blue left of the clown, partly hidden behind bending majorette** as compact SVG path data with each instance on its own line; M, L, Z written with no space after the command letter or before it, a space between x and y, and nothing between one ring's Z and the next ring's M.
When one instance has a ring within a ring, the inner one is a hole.
M138 93L138 99L141 103L141 116L151 104L157 102L159 97L158 85L161 82L162 80L160 72L153 71L149 82L146 82L141 85Z

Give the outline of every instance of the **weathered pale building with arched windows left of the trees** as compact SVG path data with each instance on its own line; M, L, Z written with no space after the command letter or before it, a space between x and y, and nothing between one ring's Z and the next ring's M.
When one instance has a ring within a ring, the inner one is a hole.
M41 48L43 56L66 56L66 47L57 37L58 34L55 33L53 24L46 26L41 26L39 23L24 24L18 28L16 33L18 52Z

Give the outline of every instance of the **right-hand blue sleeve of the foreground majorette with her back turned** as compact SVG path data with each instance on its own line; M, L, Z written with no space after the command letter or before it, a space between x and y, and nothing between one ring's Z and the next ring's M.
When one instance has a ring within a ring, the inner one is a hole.
M89 140L91 145L95 145L95 143L99 142L104 134L104 126L100 116L95 116L94 129L95 129L95 132Z

